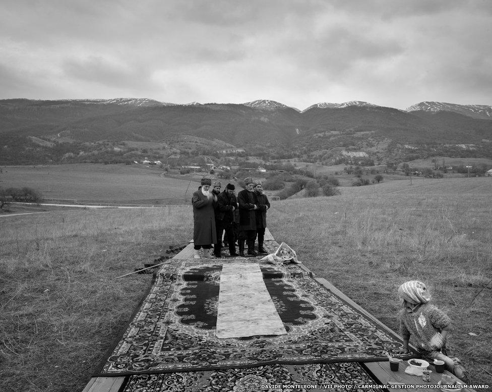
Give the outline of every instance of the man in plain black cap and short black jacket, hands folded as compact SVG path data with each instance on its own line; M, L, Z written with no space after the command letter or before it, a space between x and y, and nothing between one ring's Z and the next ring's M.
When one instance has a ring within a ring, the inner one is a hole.
M217 208L215 209L215 226L217 227L217 244L214 247L215 257L220 257L222 248L222 232L225 231L224 246L227 241L229 254L234 257L236 246L234 244L234 213L237 209L237 200L234 195L234 185L227 184L224 191L217 195Z

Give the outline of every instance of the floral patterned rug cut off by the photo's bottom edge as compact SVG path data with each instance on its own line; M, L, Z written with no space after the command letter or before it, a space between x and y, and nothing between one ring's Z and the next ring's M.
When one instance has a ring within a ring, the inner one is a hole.
M345 362L134 375L127 377L119 392L387 391L357 387L379 383L360 364Z

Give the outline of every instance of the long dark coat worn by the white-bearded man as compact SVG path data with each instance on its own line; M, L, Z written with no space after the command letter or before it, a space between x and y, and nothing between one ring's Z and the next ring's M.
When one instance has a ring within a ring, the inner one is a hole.
M210 245L217 242L215 231L214 201L202 191L196 191L193 204L193 242L195 245Z

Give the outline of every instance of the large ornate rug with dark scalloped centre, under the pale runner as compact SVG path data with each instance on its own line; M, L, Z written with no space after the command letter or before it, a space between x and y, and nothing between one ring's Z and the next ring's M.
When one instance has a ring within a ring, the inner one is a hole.
M299 269L262 265L286 335L218 339L219 277L227 262L174 260L162 267L142 305L96 376L155 374L386 360L397 337ZM406 358L410 358L407 356Z

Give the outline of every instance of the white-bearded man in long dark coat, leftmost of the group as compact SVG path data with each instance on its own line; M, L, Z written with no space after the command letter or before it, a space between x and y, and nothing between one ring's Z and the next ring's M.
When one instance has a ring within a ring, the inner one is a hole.
M192 197L193 204L193 258L200 258L200 248L203 248L203 257L212 257L210 249L217 242L215 230L214 204L217 197L209 192L212 180L203 178L202 189L196 191Z

